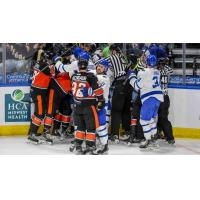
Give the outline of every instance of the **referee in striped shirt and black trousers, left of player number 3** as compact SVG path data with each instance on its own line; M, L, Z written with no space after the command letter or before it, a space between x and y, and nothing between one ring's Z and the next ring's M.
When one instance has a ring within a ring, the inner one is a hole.
M132 87L129 84L129 81L127 81L127 71L129 66L121 54L119 45L112 44L109 47L109 50L110 56L108 57L108 61L112 71L114 88L111 107L110 139L111 141L118 143L120 123L123 123L126 134L130 132Z

